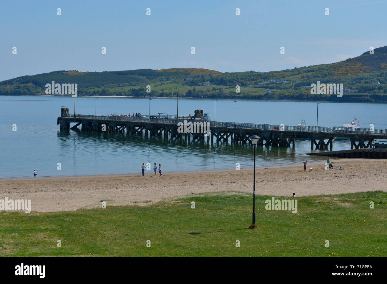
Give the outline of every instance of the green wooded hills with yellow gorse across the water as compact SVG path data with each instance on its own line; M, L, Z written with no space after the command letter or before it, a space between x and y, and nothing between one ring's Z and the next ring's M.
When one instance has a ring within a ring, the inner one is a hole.
M387 102L387 46L347 60L270 72L202 68L84 72L61 70L0 82L0 95L45 95L46 83L77 83L78 95ZM346 92L312 95L312 83L342 83ZM240 92L236 92L236 86ZM150 92L147 92L150 87Z

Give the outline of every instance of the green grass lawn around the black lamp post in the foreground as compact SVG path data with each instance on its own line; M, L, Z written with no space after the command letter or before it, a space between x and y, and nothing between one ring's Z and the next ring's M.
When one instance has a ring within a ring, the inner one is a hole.
M292 199L292 197L276 197ZM192 195L147 207L0 213L0 255L386 257L387 194L297 197L298 212L265 210L238 192ZM195 209L191 202L195 202ZM374 209L370 209L370 201ZM57 240L62 247L57 247ZM147 247L147 240L151 247ZM236 247L237 240L240 247ZM325 241L329 247L325 247Z

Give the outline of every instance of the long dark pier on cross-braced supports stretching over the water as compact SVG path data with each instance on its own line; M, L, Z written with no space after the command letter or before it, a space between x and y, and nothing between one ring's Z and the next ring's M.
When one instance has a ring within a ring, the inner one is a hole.
M295 146L297 136L308 136L311 140L311 149L315 146L316 149L327 150L328 146L332 150L332 142L334 138L348 138L351 142L351 149L371 148L374 139L387 139L387 129L368 129L368 128L353 128L346 129L340 127L325 127L319 126L287 126L287 125L271 125L271 124L251 124L239 122L214 122L204 121L204 119L194 119L194 117L174 117L168 118L149 118L142 117L123 117L123 116L104 116L104 115L74 115L60 116L57 123L60 129L70 129L70 122L76 124L71 129L81 126L82 131L108 131L122 133L127 135L148 135L162 136L167 139L171 138L184 139L199 139L207 140L211 137L211 141L216 139L216 142L228 143L231 138L231 143L251 143L249 137L257 134L261 137L258 145L265 146L280 146L290 147ZM194 132L185 130L178 131L178 123L181 122L197 122L201 123ZM205 135L203 124L208 123L209 133ZM196 131L195 131L196 130ZM203 131L204 130L204 131ZM327 141L325 141L327 140Z

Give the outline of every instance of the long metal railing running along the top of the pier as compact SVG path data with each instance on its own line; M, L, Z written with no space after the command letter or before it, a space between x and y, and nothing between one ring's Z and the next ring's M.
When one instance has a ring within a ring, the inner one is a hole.
M71 116L74 118L74 114ZM193 119L192 116L179 116L179 119L175 119L175 116L168 116L168 119L149 118L149 116L141 117L128 117L128 116L106 116L106 115L84 115L77 114L76 119L96 119L100 121L112 121L112 122L153 122L161 124L176 125L178 122L184 122L184 120L190 122L206 122L203 119ZM239 122L222 122L222 121L209 121L210 128L229 128L232 129L244 129L254 131L267 130L267 131L293 131L302 133L321 133L321 134L368 134L368 135L387 135L387 129L371 129L371 128L346 128L346 127L327 127L327 126L293 126L293 125L273 125L273 124L254 124L254 123L239 123Z

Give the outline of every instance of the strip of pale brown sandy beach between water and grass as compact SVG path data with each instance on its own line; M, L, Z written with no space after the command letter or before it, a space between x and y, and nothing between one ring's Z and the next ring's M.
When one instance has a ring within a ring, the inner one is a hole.
M368 190L386 191L387 160L336 159L335 168L325 170L325 162L256 169L256 193L262 195L297 196L341 194ZM352 168L352 169L351 169ZM140 170L139 170L140 172ZM375 175L376 173L376 175ZM163 199L203 192L239 191L252 194L253 168L197 172L146 171L137 175L98 175L83 177L47 177L33 179L1 179L0 199L31 199L31 210L39 212L74 211L107 206L145 205Z

